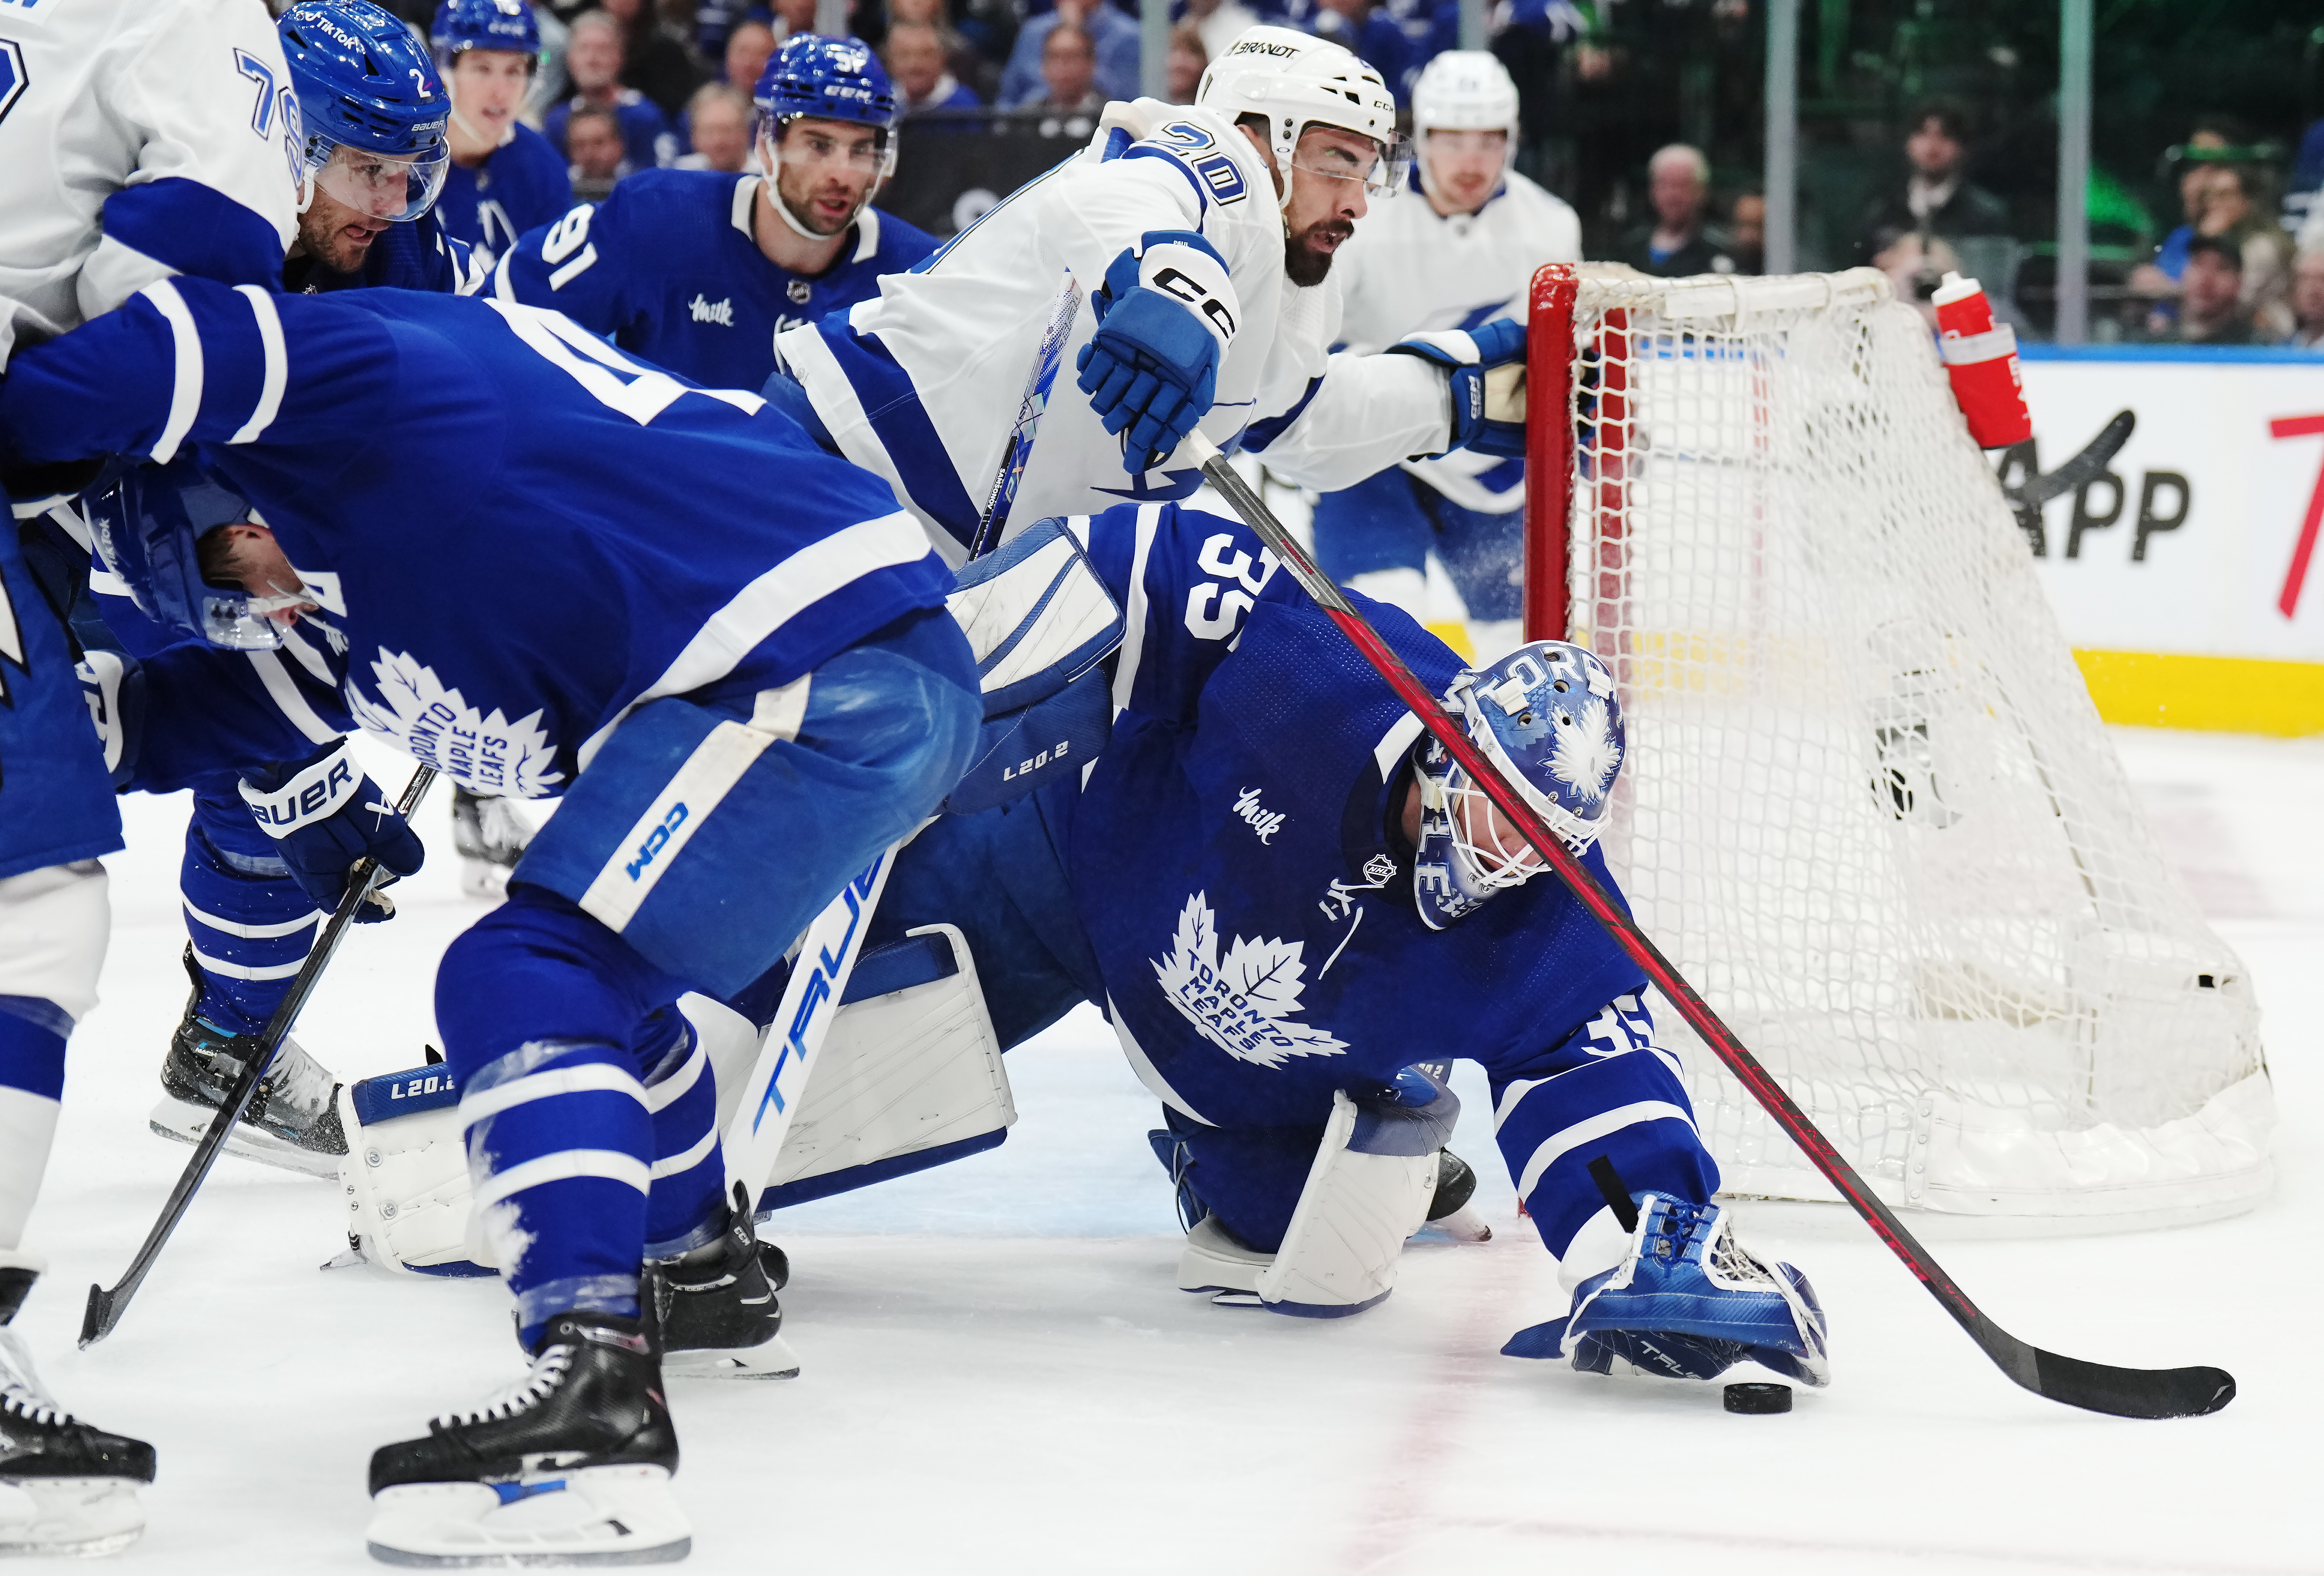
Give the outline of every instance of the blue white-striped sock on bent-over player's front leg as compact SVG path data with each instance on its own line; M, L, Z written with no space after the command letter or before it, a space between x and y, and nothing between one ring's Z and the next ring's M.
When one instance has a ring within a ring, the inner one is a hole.
M516 1295L518 1339L530 1348L562 1311L637 1313L648 1195L674 1234L709 1213L690 1192L704 1169L723 1183L716 1144L655 1185L653 1095L674 1090L672 1153L709 1137L695 1088L676 1090L688 1058L676 997L683 986L572 902L514 883L509 902L476 920L437 969L437 1025L460 1081L476 1211ZM667 1072L665 1072L667 1067ZM709 1095L711 1109L716 1095ZM688 1127L686 1123L693 1123Z

